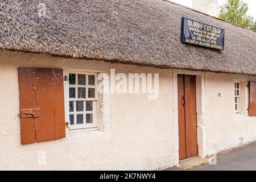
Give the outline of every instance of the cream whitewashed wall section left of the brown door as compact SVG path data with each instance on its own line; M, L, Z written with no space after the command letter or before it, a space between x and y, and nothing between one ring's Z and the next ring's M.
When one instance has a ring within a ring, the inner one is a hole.
M1 51L0 169L161 169L174 166L171 71ZM160 73L160 97L112 94L104 131L86 131L50 142L20 144L18 67ZM39 156L46 152L46 165Z

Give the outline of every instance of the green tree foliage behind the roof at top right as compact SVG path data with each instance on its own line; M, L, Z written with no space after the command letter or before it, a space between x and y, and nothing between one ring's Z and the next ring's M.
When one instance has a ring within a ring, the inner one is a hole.
M220 7L218 16L239 26L256 31L256 21L254 21L253 16L246 15L247 11L248 6L242 0L228 0Z

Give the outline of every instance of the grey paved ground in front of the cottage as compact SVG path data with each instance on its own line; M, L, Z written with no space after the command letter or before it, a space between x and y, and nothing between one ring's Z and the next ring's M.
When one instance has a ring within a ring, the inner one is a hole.
M169 168L168 171L183 170L179 168ZM217 154L217 164L204 164L192 171L237 171L237 170L256 170L256 142L236 148L234 150L225 151Z

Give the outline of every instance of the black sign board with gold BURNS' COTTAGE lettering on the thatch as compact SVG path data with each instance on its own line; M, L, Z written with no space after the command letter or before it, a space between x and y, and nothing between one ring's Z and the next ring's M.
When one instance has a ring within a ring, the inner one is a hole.
M224 50L225 30L196 20L181 18L181 43Z

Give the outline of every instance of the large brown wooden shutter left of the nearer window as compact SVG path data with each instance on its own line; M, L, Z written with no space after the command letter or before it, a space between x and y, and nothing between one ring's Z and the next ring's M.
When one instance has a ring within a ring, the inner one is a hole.
M65 137L63 70L19 68L21 143Z

